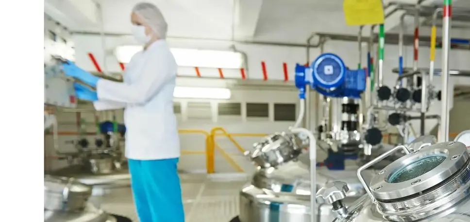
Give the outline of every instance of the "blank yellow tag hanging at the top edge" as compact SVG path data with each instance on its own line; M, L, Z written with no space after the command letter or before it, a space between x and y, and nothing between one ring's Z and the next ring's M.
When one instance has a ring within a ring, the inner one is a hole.
M384 23L382 0L343 0L347 25L373 25Z

